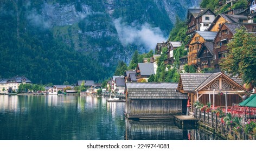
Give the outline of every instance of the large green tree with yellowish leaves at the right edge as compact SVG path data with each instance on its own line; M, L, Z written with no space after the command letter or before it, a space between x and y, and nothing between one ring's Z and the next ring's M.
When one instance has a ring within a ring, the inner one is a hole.
M238 74L245 83L254 83L256 79L256 36L242 28L236 30L233 40L227 44L228 57L222 59L222 71Z

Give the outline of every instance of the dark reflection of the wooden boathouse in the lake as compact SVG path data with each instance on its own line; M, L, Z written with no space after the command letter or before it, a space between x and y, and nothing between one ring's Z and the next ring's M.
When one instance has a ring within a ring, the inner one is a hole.
M188 136L172 121L126 119L125 140L188 140Z

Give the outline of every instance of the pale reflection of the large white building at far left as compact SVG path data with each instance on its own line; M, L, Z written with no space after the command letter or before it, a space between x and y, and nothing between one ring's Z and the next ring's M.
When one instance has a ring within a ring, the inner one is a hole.
M8 110L17 110L18 109L18 97L17 95L8 96L0 95L0 112Z

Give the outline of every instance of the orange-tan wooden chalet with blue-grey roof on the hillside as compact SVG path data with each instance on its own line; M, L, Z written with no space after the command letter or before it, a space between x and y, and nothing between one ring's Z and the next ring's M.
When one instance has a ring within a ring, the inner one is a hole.
M200 59L197 57L202 44L205 42L213 42L217 32L211 31L195 31L193 36L188 42L188 65L198 67Z

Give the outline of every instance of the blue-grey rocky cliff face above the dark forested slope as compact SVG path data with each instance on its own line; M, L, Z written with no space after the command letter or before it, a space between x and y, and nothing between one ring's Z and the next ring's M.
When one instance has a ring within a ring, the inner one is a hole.
M135 50L146 52L168 38L175 17L187 15L199 0L76 1L49 3L32 16L42 16L46 28L77 51L86 51L104 65L129 62ZM30 15L31 16L31 15Z

